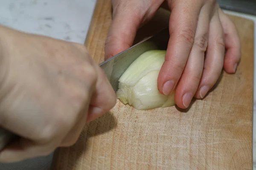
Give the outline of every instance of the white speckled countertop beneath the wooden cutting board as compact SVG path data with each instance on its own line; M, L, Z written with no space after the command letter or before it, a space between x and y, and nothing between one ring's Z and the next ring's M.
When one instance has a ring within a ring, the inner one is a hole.
M0 24L28 33L84 44L95 3L96 0L0 0ZM256 22L255 16L225 12ZM254 49L256 49L256 38L254 41ZM254 58L255 56L256 54ZM255 69L254 75L256 75ZM254 83L255 88L256 83ZM254 91L254 113L256 113L255 96ZM253 118L254 124L256 116ZM253 131L256 132L255 126ZM15 164L0 164L0 170L49 170L51 160L52 155ZM256 169L256 135L254 134L253 162Z

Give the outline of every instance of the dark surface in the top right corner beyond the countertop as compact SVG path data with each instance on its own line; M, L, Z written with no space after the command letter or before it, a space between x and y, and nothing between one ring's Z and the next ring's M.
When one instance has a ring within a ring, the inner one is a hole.
M256 0L217 0L222 9L256 15Z

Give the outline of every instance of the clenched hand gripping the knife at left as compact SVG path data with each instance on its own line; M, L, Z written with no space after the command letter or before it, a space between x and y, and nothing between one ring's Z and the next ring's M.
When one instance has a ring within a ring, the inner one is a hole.
M0 27L0 126L21 136L0 162L74 144L116 96L84 45Z

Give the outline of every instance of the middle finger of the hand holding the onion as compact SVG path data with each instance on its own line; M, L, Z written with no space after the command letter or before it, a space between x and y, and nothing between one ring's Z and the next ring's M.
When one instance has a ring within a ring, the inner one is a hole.
M180 81L177 84L175 101L179 108L187 108L198 89L204 68L204 53L207 48L210 22L210 6L203 6L199 15L195 40Z

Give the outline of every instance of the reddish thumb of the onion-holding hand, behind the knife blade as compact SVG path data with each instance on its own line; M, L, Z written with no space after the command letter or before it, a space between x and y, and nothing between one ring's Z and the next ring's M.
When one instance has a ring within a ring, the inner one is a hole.
M105 42L105 59L131 47L141 20L140 14L137 15L132 8L113 11L113 21Z

